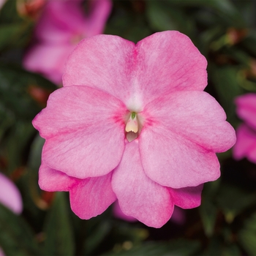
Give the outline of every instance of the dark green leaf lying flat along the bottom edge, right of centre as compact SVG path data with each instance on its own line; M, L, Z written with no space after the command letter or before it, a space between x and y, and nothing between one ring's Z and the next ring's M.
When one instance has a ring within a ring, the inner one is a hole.
M124 243L121 252L110 252L107 255L194 255L200 248L198 241L185 239L173 240L168 242L146 242L138 246Z

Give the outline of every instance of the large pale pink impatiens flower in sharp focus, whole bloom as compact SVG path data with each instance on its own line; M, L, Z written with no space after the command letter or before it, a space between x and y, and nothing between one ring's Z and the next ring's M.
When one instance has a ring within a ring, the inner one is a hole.
M82 219L118 200L124 214L161 227L174 206L200 205L203 183L219 178L216 152L236 135L203 91L206 59L178 31L136 45L84 39L67 60L64 87L33 121L45 145L39 186L69 191Z

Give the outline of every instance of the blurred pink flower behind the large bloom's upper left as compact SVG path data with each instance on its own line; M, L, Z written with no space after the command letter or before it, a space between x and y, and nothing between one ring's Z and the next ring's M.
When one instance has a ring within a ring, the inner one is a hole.
M80 39L101 34L110 15L110 0L89 1L89 15L80 0L51 0L37 23L37 43L26 54L23 64L53 83L61 83L64 63Z

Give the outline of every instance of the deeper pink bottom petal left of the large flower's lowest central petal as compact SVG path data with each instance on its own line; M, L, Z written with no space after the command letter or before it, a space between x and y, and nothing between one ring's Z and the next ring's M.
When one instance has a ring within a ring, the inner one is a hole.
M72 187L69 192L70 204L78 217L90 219L102 214L116 200L111 188L111 176L112 173L97 178L86 178Z

